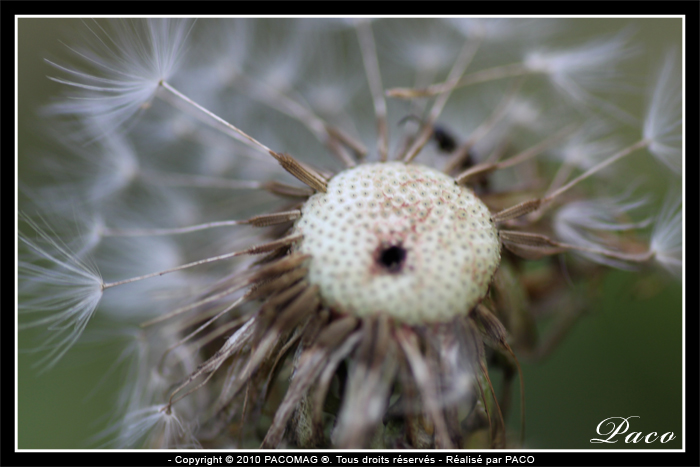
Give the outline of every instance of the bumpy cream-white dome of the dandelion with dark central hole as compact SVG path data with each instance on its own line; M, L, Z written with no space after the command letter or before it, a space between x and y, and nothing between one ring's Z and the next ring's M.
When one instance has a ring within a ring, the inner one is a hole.
M342 313L409 324L465 315L500 262L487 207L444 173L401 162L345 170L294 225L309 281Z

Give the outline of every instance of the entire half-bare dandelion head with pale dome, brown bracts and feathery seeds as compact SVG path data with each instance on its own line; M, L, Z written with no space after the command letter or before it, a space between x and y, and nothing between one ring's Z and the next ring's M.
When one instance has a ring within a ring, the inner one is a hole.
M84 20L20 148L21 364L118 349L91 447L569 447L520 362L611 269L680 316L680 52L606 21Z

